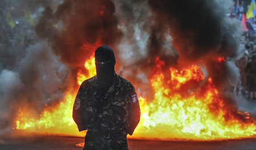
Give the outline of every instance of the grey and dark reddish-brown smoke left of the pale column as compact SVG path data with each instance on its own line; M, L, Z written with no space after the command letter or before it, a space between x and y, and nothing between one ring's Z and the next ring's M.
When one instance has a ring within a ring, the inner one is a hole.
M77 87L88 45L114 47L122 36L114 11L111 1L1 1L0 128L15 126L19 108L39 117Z

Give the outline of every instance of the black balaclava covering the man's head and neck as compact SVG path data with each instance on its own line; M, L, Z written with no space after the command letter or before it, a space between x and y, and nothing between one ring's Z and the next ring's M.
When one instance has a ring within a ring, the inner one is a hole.
M97 72L97 86L106 94L114 81L115 55L108 45L101 45L95 51L95 65Z

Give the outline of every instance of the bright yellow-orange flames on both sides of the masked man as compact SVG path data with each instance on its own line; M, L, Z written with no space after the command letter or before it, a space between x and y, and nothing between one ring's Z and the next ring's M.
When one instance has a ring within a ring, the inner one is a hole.
M150 79L154 98L148 101L139 97L141 122L130 138L222 140L256 134L255 120L226 103L212 78L205 78L199 66L170 68L170 78L167 78L161 70L164 62L159 57L155 62L157 71ZM93 56L84 66L88 74L77 72L79 85L96 74ZM72 119L77 90L67 93L58 105L46 106L38 118L27 107L20 107L16 129L84 136Z

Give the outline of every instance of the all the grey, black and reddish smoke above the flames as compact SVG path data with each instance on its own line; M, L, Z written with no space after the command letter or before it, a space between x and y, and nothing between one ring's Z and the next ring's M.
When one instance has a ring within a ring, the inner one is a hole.
M156 57L166 70L199 64L224 91L238 78L232 60L238 55L239 26L224 12L231 0L0 3L0 113L5 114L0 122L6 122L0 130L14 126L19 107L40 114L46 104L61 101L78 86L77 69L101 44L113 47L117 73L136 83L143 97L151 93L144 85L150 84ZM9 12L15 27L6 19ZM216 62L218 57L226 61Z

